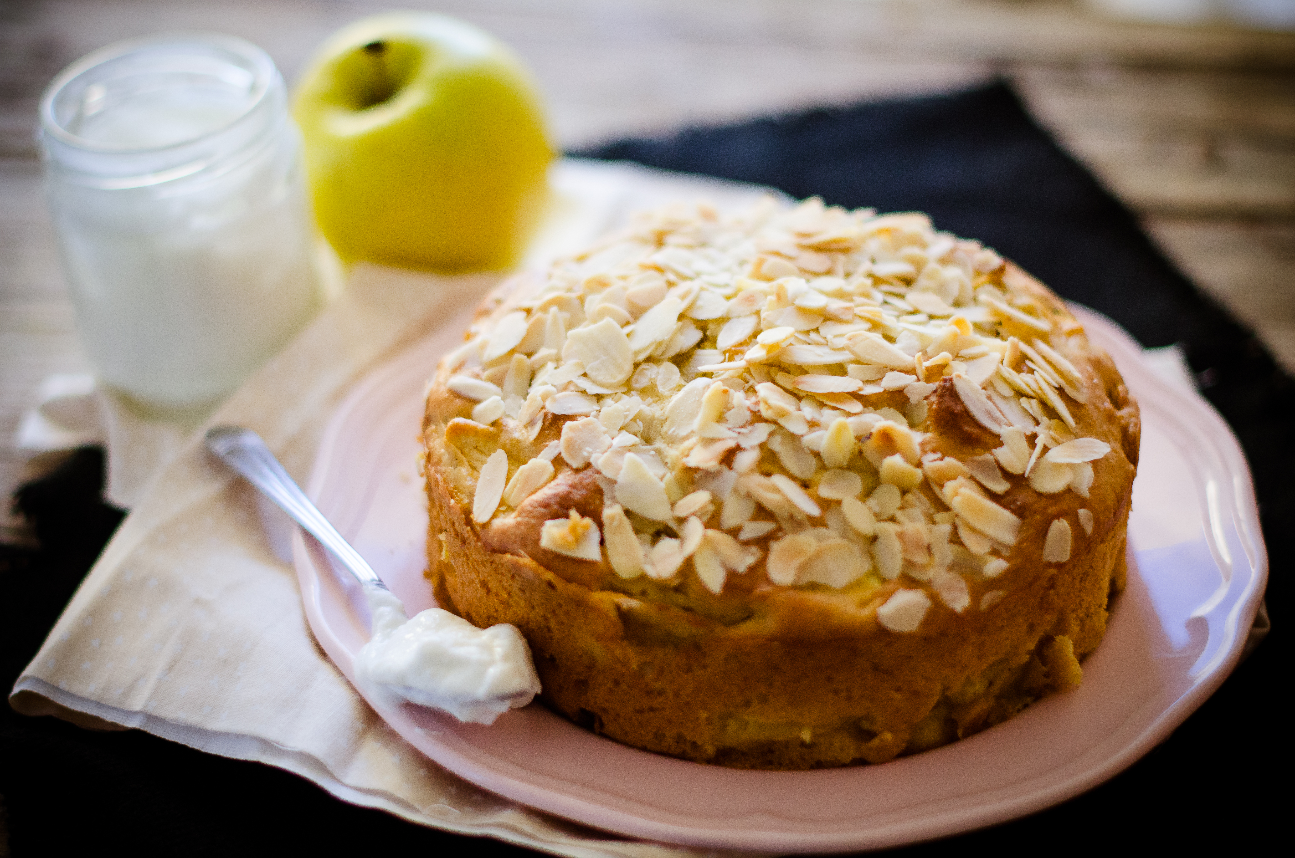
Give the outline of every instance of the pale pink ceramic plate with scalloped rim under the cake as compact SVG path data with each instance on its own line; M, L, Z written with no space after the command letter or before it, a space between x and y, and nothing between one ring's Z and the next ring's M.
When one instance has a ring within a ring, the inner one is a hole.
M532 705L491 727L374 708L467 780L607 831L698 846L828 852L891 846L1002 822L1115 775L1177 727L1241 655L1267 577L1246 460L1206 402L1164 384L1123 330L1079 311L1142 406L1128 588L1081 688L965 741L881 766L741 771L635 750ZM372 373L333 417L310 491L411 614L433 605L414 456L422 389L453 323ZM295 538L315 635L354 680L368 609L322 551ZM373 704L374 701L369 701Z

